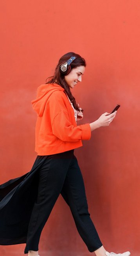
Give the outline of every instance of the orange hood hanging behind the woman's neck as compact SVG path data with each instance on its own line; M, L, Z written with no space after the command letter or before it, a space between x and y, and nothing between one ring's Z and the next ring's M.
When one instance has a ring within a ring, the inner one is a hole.
M32 108L37 112L37 115L39 117L43 116L43 112L48 98L54 91L57 90L65 91L64 88L58 85L57 83L42 84L38 87L36 99L32 100L31 103Z

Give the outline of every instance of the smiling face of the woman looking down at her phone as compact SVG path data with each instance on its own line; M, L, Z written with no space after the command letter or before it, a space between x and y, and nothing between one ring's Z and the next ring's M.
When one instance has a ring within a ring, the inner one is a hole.
M78 82L82 82L82 76L84 74L85 67L79 66L75 69L72 69L68 75L65 76L65 81L70 88L74 88L74 86Z

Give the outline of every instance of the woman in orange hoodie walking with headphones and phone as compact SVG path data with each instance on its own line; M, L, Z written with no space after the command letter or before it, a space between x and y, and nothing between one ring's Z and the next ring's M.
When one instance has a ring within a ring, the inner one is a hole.
M5 216L0 244L26 243L24 253L28 256L38 256L41 232L60 193L90 252L97 256L130 255L104 249L88 212L83 177L74 155L82 140L89 140L93 130L108 126L117 112L106 112L92 123L77 125L83 119L83 109L70 88L82 81L85 67L86 62L79 54L69 52L59 59L54 76L38 87L37 97L32 100L38 115L35 143L38 156L29 173L0 186L0 216Z

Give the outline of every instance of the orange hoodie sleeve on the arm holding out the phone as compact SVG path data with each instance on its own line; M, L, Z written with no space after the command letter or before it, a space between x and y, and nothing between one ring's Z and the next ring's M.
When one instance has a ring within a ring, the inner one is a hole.
M49 98L52 133L62 141L90 140L90 124L74 126L70 121L65 100L67 98L61 91L55 91Z

